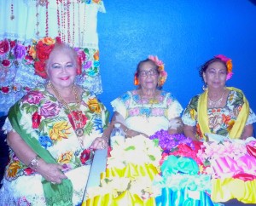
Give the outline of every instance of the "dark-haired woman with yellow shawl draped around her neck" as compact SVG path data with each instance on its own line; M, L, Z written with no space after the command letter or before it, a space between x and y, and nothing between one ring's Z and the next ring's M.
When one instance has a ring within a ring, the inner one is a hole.
M232 62L222 54L201 66L205 91L189 101L182 117L187 137L207 140L212 134L218 134L246 139L253 135L256 116L247 98L240 89L225 86L232 74Z

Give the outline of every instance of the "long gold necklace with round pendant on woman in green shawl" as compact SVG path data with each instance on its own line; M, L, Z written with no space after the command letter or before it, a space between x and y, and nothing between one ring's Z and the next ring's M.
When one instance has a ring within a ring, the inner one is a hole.
M74 129L75 129L75 133L77 134L78 137L81 137L84 135L84 129L82 128L82 112L79 111L80 105L81 105L81 100L79 98L79 93L76 89L76 86L73 85L73 92L74 92L74 96L76 99L76 109L78 110L78 116L79 116L79 121L77 121L77 119L75 117L73 117L73 111L71 110L70 106L67 104L67 102L65 100L63 100L63 98L61 97L61 94L58 92L57 89L55 89L55 86L52 83L48 83L49 87L54 91L55 95L57 96L58 100L61 101L61 104L68 110L68 112L71 114L71 117L73 119L73 123L74 123ZM81 140L80 140L81 141Z

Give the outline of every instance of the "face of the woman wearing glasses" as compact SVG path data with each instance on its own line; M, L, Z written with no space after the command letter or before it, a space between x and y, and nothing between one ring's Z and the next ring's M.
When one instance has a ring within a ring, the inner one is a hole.
M138 79L142 89L156 89L159 73L151 62L144 62L140 68Z

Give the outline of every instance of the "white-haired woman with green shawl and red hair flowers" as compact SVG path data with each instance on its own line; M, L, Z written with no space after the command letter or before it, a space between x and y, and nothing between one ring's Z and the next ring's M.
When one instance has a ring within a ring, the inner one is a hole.
M77 205L82 202L93 150L108 146L102 135L108 111L96 95L74 83L81 65L57 38L32 46L35 71L48 79L9 110L9 164L1 205Z

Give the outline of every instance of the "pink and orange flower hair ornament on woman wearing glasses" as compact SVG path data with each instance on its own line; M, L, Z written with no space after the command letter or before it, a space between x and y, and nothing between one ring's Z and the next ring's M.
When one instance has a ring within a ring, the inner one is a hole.
M160 73L159 75L159 80L158 80L158 87L161 87L164 85L166 82L167 78L167 72L165 71L165 66L164 63L158 59L157 56L149 55L148 60L152 60L156 66L158 66L158 72ZM138 80L138 74L137 72L134 75L134 84L139 85L139 80Z

